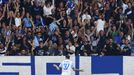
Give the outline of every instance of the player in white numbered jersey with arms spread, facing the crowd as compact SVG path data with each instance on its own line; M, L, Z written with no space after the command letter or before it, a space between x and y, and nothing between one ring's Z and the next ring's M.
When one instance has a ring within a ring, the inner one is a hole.
M66 56L66 59L63 60L59 66L57 66L56 64L53 64L53 66L57 69L57 70L62 70L61 75L71 75L71 71L83 71L80 69L76 69L74 67L73 62L70 60L70 56Z

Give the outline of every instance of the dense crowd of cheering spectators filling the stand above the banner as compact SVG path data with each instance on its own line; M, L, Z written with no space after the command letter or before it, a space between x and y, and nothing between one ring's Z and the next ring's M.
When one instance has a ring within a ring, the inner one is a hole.
M0 0L0 56L130 56L133 23L133 0Z

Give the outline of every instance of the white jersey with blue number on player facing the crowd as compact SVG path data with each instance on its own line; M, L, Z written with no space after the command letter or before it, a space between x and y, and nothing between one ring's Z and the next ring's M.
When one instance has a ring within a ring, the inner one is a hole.
M61 75L71 75L72 68L74 67L73 62L71 60L64 60L59 67L62 68Z

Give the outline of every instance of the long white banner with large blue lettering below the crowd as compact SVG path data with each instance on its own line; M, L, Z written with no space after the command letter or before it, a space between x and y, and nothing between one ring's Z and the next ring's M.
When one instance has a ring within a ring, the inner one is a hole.
M5 56L0 57L0 75L60 75L53 64L59 65L64 56ZM72 75L133 75L134 57L76 56L71 59L84 72Z

